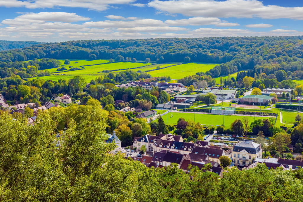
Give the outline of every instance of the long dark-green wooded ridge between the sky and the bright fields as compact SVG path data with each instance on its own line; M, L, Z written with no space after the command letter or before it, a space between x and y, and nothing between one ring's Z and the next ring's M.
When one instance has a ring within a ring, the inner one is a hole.
M221 63L206 72L212 77L247 69L258 72L265 69L269 75L278 70L293 72L303 69L302 39L301 36L291 36L67 41L3 51L0 61L9 63L34 58L115 59L122 56L141 61L150 58L158 63Z

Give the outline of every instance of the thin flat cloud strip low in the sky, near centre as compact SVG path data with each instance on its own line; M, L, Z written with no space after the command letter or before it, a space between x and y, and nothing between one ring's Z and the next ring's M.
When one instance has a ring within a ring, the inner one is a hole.
M129 28L118 28L118 31L123 32L165 32L165 31L183 31L187 30L183 27L129 27Z

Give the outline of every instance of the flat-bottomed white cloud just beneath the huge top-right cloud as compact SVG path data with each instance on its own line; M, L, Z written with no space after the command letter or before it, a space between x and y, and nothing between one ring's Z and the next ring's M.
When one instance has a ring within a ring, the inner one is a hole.
M188 19L180 19L180 20L166 20L166 24L175 25L175 26L183 26L183 25L216 25L221 27L228 26L238 26L238 23L230 23L230 22L222 22L219 18L205 18L205 17L195 17Z

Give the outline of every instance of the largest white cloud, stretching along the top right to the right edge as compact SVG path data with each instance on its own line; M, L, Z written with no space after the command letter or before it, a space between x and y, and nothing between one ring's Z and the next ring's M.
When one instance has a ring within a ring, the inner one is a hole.
M290 18L303 20L303 7L265 6L257 0L153 0L148 3L148 6L161 12L179 13L185 16Z

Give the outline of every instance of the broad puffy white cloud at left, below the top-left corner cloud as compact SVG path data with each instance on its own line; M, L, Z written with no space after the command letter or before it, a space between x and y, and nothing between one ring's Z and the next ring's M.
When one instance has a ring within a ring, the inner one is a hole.
M5 19L2 21L3 24L7 25L29 25L33 22L43 23L45 21L52 22L77 22L77 21L86 21L90 18L82 17L76 15L75 13L66 13L66 12L40 12L40 13L26 13L19 15L14 19Z

